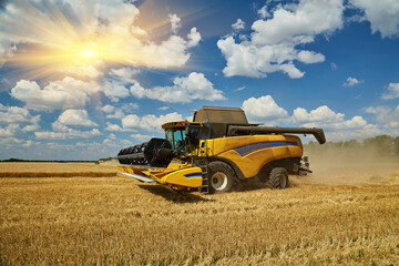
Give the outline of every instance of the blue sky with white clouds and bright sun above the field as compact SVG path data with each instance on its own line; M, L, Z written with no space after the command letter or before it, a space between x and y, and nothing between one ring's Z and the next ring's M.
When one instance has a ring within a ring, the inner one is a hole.
M115 156L202 106L398 136L399 1L0 1L0 160Z

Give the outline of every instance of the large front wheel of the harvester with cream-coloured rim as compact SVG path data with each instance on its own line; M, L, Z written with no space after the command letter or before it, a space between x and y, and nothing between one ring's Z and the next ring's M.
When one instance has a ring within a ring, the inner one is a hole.
M224 162L212 162L208 164L209 180L208 191L209 194L229 192L233 190L236 174L234 170Z

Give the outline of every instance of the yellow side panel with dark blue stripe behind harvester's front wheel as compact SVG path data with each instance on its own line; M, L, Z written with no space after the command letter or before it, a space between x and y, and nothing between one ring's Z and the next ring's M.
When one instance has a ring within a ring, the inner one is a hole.
M213 156L235 163L245 177L253 177L260 168L275 160L301 157L303 145L296 135L252 135L214 139ZM211 155L211 154L208 154Z

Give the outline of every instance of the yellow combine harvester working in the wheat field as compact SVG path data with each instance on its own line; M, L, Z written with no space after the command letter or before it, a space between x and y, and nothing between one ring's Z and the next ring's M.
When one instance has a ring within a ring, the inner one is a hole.
M142 182L202 193L228 192L256 176L270 188L285 188L289 174L311 172L300 139L287 133L326 142L321 129L249 124L242 109L203 108L193 121L163 124L165 139L122 149L117 168Z

